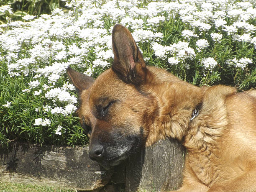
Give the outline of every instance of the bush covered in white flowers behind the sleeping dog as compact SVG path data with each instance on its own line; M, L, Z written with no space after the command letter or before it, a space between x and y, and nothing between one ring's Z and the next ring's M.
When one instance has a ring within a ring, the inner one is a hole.
M92 77L109 68L115 23L131 30L148 65L196 85L255 87L253 3L67 0L68 12L0 25L0 143L87 143L65 68Z

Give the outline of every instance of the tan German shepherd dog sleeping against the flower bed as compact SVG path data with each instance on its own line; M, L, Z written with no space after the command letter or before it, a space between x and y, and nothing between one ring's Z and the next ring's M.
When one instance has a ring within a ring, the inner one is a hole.
M112 41L112 67L97 79L67 68L90 158L110 169L141 147L176 138L187 148L178 191L256 192L256 90L197 87L146 66L120 24Z

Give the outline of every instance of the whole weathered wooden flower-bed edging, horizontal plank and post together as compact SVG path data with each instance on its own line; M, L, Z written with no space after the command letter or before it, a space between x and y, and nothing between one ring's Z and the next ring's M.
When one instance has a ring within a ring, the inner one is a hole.
M0 180L88 191L124 183L129 192L162 191L181 184L183 163L184 148L175 140L159 141L108 171L89 159L87 146L10 143L0 151Z

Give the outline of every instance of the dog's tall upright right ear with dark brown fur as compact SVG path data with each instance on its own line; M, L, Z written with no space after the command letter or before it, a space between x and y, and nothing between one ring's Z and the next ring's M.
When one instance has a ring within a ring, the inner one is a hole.
M113 71L127 83L139 84L146 76L146 64L130 31L116 24L112 31Z

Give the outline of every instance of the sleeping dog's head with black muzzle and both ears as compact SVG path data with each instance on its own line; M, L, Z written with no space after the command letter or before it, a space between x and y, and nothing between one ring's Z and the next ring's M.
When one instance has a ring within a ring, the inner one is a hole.
M90 137L89 156L105 169L145 145L156 113L156 101L144 91L150 74L131 33L117 24L112 41L112 67L97 79L67 69L79 92L77 113Z

